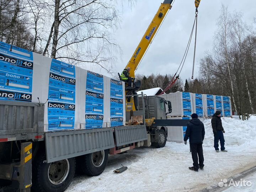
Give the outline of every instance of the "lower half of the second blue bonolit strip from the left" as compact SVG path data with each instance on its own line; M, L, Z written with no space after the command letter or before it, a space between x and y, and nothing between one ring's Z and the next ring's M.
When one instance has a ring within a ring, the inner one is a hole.
M74 129L75 105L67 103L48 102L49 130Z

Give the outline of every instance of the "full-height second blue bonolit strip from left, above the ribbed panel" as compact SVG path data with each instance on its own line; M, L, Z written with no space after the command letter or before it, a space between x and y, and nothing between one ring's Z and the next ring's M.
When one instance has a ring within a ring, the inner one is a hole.
M48 92L49 130L74 129L75 84L75 66L52 59Z

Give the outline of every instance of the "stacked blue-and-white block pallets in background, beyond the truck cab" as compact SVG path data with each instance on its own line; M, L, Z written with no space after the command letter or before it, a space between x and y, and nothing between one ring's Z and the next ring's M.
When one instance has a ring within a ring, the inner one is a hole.
M191 119L192 113L197 113L203 121L213 116L216 110L222 112L222 117L230 117L232 114L231 100L228 96L215 96L207 94L193 94L188 92L175 92L161 95L165 100L171 101L172 113L167 118ZM170 142L183 142L187 127L167 127Z

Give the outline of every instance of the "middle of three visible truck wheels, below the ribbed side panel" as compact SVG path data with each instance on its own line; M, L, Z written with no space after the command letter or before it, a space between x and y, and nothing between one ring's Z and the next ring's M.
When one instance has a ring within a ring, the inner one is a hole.
M105 170L107 165L108 149L83 155L82 159L84 163L81 164L81 168L84 174L98 176Z

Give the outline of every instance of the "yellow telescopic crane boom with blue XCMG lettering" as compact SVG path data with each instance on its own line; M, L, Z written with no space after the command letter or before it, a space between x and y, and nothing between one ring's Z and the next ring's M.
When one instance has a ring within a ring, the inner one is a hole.
M135 49L135 52L133 53L132 58L130 58L128 64L126 65L126 68L130 67L130 77L133 77L133 78L135 77L134 73L137 70L146 51L148 50L150 43L153 41L156 32L161 26L161 23L164 21L165 16L167 15L168 11L171 9L172 1L173 0L164 0L164 2L161 3L161 6L156 12L156 15L151 21L138 47Z

